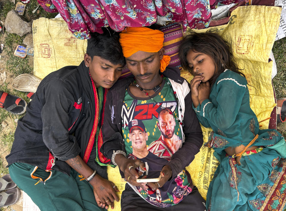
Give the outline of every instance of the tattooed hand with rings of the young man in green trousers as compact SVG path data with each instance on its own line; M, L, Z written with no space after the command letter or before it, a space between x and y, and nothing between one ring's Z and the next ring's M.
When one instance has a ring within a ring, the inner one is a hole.
M119 197L116 195L116 192L119 192L119 190L116 185L113 182L102 178L98 174L96 174L89 183L93 187L97 205L106 210L110 205L111 209L114 209L114 200L119 201Z

